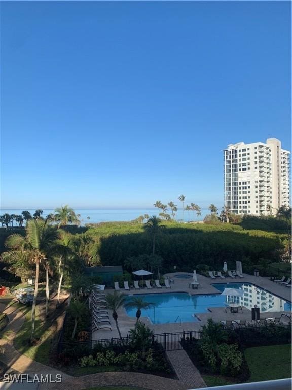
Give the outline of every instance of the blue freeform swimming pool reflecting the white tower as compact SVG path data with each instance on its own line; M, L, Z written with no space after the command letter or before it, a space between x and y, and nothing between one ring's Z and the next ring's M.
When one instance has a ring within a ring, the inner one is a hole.
M291 303L274 296L268 291L255 287L250 283L217 283L213 287L218 291L224 288L241 288L244 296L240 304L251 308L257 304L261 312L268 311L288 311L291 310ZM188 293L158 293L158 294L134 294L143 298L146 302L154 303L149 309L142 309L142 316L148 317L153 324L159 323L179 323L198 322L194 314L208 312L208 307L224 307L226 297L218 294L209 295L189 295ZM250 297L251 296L251 297ZM127 296L126 302L131 299ZM130 317L136 317L136 309L126 309Z

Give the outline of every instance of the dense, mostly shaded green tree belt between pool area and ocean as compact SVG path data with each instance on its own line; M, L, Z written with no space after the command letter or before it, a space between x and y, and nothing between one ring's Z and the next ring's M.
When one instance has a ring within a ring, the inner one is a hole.
M198 264L220 267L224 261L235 266L243 261L248 268L260 259L281 261L288 239L286 234L245 230L232 224L179 224L164 221L156 235L155 253L164 261L162 271L190 270ZM153 240L140 224L104 223L75 235L79 255L88 265L122 265L128 258L153 253Z

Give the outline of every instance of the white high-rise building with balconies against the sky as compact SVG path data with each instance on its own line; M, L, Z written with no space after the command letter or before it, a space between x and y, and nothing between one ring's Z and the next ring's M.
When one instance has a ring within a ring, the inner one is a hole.
M235 214L275 215L289 206L289 155L276 138L224 150L225 206Z

